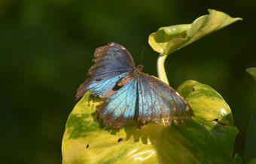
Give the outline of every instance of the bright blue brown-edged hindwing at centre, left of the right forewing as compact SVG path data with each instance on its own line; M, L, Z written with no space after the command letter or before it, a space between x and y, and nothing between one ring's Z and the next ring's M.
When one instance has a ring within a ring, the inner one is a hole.
M105 105L97 109L105 125L122 128L138 118L138 80L133 78L117 92L105 100Z

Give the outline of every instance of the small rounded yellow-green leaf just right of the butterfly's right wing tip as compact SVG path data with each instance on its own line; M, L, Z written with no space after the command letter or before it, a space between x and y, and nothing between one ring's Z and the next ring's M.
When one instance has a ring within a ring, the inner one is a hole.
M213 121L218 119L222 124L233 124L233 115L221 94L209 85L194 80L183 82L177 91L184 96L194 111L195 119Z

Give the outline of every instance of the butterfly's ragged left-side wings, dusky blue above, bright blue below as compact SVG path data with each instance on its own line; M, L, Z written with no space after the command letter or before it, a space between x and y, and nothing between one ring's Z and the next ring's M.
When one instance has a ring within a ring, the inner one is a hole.
M135 67L130 52L117 43L97 48L94 57L95 64L87 73L88 78L79 86L77 99L89 90L93 90L95 97L111 96L115 92L112 88L116 82Z

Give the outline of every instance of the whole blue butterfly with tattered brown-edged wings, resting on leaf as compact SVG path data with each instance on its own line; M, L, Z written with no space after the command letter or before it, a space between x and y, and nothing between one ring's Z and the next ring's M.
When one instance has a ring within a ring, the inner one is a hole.
M78 88L76 98L87 91L94 97L106 98L97 109L105 125L122 128L132 120L170 125L191 118L194 112L173 88L135 67L133 58L123 46L109 43L94 53L95 64L88 78Z

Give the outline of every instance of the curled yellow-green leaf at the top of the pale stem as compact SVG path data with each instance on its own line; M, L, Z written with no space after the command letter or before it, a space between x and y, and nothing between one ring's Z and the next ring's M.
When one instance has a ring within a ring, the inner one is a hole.
M209 9L209 15L200 16L192 24L159 28L149 36L148 43L154 51L169 55L237 20L241 18L232 18L221 11Z

